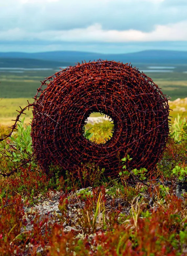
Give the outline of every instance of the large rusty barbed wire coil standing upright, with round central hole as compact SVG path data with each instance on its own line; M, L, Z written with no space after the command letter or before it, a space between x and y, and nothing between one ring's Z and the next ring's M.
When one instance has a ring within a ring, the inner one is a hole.
M114 176L126 152L133 158L130 168L149 170L166 147L168 100L151 78L129 64L78 63L43 81L34 99L31 137L42 168L52 163L75 171L91 161ZM93 112L114 122L113 136L104 144L83 136Z

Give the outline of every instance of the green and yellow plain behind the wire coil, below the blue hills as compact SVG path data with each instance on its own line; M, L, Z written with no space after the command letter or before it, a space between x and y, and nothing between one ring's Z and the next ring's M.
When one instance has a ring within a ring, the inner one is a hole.
M141 65L141 69L146 69ZM171 97L170 102L171 116L177 117L179 113L181 117L187 117L187 102L173 102L177 98L187 97L187 73L181 72L185 68L181 66L176 68L176 72L172 73L147 73L153 81L161 88L162 92ZM27 100L33 102L33 97L37 92L37 88L41 85L46 77L53 75L58 70L46 71L21 71L23 73L7 73L2 71L0 73L0 123L2 125L12 124L11 119L15 119L16 110L19 106L24 107L27 105ZM26 111L26 122L30 121L32 117L31 111ZM94 115L94 114L93 114ZM95 114L96 116L97 114ZM174 120L172 118L172 120Z

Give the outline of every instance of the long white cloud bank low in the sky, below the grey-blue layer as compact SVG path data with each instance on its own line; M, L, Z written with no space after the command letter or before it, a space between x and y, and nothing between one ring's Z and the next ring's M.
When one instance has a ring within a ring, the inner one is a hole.
M65 42L146 42L146 41L187 41L187 20L168 25L156 25L151 32L140 30L104 30L95 23L87 28L28 32L19 28L0 32L0 40L7 41L65 41Z

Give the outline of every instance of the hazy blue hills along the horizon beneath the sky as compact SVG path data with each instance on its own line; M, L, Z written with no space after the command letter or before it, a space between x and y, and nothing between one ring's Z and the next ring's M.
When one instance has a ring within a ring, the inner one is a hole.
M54 51L42 53L0 52L0 68L23 67L23 68L57 68L62 66L74 66L77 62L97 59L115 60L123 63L154 64L154 65L187 65L187 52L149 50L125 54L104 54L75 51Z

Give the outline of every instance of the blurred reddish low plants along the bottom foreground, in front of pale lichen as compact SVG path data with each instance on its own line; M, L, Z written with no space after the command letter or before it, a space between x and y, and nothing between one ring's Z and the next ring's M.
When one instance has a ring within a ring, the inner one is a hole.
M98 201L100 205L106 203L102 192L104 188L97 188L85 200L79 221L83 230L81 239L76 230L64 231L69 205L66 197L61 197L59 203L63 218L34 213L31 222L25 218L21 196L2 199L0 255L186 255L182 250L187 248L187 210L181 199L167 195L163 205L158 204L144 217L141 202L136 200L131 205L135 211L132 210L130 218L120 218L118 207L113 214L105 213L108 219L105 224L103 221L96 224L92 219L94 206ZM27 230L29 225L32 228Z

